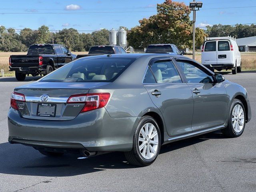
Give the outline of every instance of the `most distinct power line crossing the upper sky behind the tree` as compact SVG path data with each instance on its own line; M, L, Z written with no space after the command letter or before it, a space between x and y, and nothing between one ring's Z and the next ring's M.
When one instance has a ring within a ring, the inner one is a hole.
M233 8L254 8L256 6L244 7L220 7L220 8L202 8L201 10L214 10L214 9L233 9ZM138 13L138 12L156 12L155 11L108 11L108 12L2 12L0 14L91 14L91 13Z

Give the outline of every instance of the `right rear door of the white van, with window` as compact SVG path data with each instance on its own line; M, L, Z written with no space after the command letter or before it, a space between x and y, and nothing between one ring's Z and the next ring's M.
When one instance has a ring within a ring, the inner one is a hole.
M218 40L217 49L217 63L218 64L232 64L233 56L229 40Z

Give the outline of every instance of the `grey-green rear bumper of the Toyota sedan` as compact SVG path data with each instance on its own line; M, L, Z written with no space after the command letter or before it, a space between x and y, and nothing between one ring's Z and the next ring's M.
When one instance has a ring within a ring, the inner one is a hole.
M79 114L73 120L31 120L10 108L8 141L35 148L129 151L138 120L138 117L111 118L105 108Z

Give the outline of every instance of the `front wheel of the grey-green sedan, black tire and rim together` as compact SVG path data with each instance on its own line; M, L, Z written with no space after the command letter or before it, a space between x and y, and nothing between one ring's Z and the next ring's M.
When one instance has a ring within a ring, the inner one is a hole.
M246 112L244 110L244 105L240 100L234 99L228 113L228 126L221 131L229 138L239 137L244 132L245 121Z

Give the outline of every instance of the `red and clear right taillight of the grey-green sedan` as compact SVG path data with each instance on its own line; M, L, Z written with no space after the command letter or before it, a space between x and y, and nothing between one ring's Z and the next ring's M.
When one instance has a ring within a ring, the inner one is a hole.
M82 113L106 106L109 98L109 93L78 94L70 96L67 103L85 103Z

